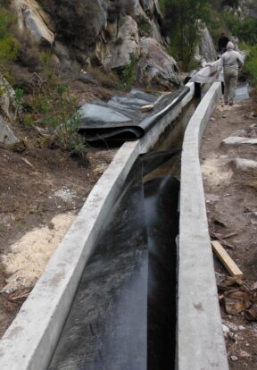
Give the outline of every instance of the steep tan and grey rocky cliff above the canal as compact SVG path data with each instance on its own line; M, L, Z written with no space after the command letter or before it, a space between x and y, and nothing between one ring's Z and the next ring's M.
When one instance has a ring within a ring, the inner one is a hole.
M179 84L178 65L164 48L158 0L12 0L12 6L21 34L51 49L63 69L120 71L136 58L142 83Z

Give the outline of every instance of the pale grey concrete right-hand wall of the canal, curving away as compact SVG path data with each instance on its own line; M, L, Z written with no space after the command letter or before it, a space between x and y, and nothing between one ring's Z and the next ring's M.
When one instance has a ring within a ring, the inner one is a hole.
M178 248L178 370L228 370L203 191L199 149L221 96L214 82L184 137Z

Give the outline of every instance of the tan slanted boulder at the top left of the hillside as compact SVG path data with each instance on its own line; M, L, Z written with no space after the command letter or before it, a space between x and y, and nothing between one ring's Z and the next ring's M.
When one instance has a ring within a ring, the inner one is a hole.
M23 32L24 29L27 29L36 43L52 46L54 43L54 24L37 1L13 0L12 4L17 13L20 31Z

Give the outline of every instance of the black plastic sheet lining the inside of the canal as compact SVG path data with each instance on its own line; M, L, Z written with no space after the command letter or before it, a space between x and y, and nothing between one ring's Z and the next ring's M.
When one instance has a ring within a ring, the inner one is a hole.
M174 368L179 183L139 156L82 274L50 370Z

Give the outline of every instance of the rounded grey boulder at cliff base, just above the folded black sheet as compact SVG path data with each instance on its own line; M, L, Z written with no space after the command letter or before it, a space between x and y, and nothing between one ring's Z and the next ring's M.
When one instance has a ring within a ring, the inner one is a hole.
M178 64L154 38L142 38L137 80L145 86L172 88L180 84Z

